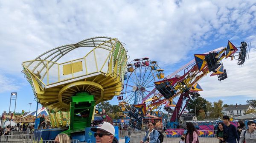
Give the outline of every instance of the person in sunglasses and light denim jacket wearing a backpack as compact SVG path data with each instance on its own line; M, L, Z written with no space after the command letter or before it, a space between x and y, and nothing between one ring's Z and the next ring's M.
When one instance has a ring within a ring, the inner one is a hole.
M149 122L148 131L146 132L146 135L143 137L143 140L140 140L140 143L160 143L158 137L159 132L156 129L154 129L153 123Z

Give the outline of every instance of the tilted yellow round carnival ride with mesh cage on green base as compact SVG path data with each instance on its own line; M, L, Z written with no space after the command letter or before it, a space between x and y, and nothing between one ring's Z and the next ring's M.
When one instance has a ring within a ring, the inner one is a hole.
M80 59L57 63L81 47L90 48L90 52ZM23 62L23 73L35 98L50 112L53 127L69 126L64 131L68 135L84 133L84 128L90 126L95 105L120 95L126 53L116 38L93 37L48 50L34 60Z

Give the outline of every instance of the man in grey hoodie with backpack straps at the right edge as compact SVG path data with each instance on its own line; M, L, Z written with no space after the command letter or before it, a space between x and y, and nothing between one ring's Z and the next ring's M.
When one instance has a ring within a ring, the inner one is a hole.
M248 129L243 130L240 135L239 143L256 143L256 126L253 121L247 122Z

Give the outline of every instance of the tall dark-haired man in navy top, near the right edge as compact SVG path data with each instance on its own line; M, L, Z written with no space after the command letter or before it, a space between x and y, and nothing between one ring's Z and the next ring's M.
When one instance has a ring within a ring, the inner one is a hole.
M236 143L239 142L239 136L236 131L236 126L230 124L230 118L228 116L223 116L223 123L224 125L224 139L226 143Z

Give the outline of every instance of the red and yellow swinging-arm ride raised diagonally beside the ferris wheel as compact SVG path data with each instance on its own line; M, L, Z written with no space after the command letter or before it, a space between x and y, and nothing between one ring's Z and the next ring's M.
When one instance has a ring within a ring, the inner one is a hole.
M239 52L237 52L238 49ZM198 81L209 73L211 73L210 76L218 76L219 81L227 79L227 72L224 69L222 59L236 59L238 60L238 65L242 65L245 59L249 57L249 51L250 44L247 45L246 42L241 42L240 47L235 47L228 41L226 48L221 47L204 54L195 54L195 59L163 80L155 81L155 88L148 91L141 103L133 104L129 109L128 115L137 120L137 124L145 123L143 118L164 104L164 109L171 111L173 99L180 95L170 119L170 122L177 122L189 102L190 96L198 96L198 91L202 91ZM137 67L139 67L139 64L137 64ZM177 75L182 70L183 75ZM157 90L159 93L157 93ZM138 115L140 118L138 118Z

